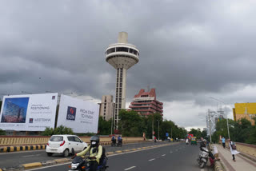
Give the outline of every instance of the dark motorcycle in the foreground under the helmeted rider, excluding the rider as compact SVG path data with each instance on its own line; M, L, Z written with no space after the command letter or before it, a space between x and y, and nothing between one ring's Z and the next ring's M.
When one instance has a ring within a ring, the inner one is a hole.
M86 171L90 169L89 161L87 161L88 158L83 159L82 157L74 157L71 165L69 165L70 169L69 171ZM107 157L103 157L101 165L98 165L97 171L105 171L108 166L106 166L107 163Z

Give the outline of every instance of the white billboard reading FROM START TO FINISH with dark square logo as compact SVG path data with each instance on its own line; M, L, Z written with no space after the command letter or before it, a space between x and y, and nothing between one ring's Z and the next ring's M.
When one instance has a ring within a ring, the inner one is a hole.
M57 126L69 127L74 133L98 133L98 112L98 104L62 94Z

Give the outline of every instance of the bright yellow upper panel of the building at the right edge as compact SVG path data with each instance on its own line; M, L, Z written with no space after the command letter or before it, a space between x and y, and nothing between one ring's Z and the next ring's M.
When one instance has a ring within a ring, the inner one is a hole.
M256 114L256 103L235 103L236 114Z

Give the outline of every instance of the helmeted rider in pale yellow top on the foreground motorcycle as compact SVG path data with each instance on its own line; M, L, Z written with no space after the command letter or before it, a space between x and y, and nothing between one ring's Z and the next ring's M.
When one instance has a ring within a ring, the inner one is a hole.
M82 152L74 154L71 159L76 156L84 156L87 152L90 152L90 155L88 157L88 161L90 164L89 171L96 171L98 165L100 164L100 159L102 158L102 145L99 145L98 135L90 137L90 145Z

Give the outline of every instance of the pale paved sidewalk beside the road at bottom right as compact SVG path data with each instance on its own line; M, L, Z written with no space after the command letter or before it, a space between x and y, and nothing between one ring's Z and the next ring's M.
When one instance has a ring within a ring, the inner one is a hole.
M256 170L256 162L251 161L250 159L243 157L238 154L235 155L235 160L233 161L232 154L230 153L230 149L223 149L222 145L216 145L218 149L219 157L227 171L255 171Z

